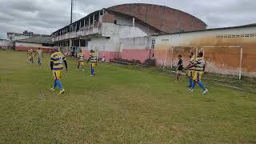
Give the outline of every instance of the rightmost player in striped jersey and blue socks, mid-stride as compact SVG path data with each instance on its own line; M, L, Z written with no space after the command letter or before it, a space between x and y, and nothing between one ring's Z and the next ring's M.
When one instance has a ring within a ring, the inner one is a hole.
M190 67L194 66L194 76L193 76L193 82L192 82L192 87L190 88L190 91L193 92L194 86L196 85L196 83L198 83L198 86L200 86L203 90L202 94L207 94L208 90L205 88L205 86L202 84L202 81L201 81L206 68L206 62L204 58L202 58L202 56L203 56L203 53L200 52L198 54L198 58L194 61L194 64L190 66Z

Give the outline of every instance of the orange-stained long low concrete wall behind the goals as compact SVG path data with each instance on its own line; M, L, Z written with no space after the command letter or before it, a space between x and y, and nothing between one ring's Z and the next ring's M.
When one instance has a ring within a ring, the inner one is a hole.
M171 46L198 46L198 49L202 46L243 46L242 75L256 77L256 26L184 34L166 34L152 38L156 39L154 58L158 66L164 64L165 58L166 66L170 66L172 59L174 65L176 65L178 54L182 54L185 62L187 62L187 56L191 48L174 48L172 56ZM207 62L206 71L218 74L238 75L240 62L239 49L205 49L205 58Z

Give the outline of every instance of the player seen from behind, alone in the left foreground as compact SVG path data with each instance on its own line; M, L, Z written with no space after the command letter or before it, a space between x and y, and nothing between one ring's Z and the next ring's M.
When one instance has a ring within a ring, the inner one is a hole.
M59 94L63 94L65 92L62 86L62 82L60 82L63 73L63 63L66 66L66 70L68 70L66 58L61 52L55 52L54 54L51 54L50 69L54 74L54 86L50 90L55 90L56 86L58 86L60 89Z

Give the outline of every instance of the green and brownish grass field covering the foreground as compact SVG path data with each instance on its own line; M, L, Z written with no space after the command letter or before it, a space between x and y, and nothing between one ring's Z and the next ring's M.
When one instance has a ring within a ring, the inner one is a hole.
M210 82L189 94L135 66L100 64L91 78L69 58L58 95L49 58L39 69L0 51L0 143L256 143L256 94Z

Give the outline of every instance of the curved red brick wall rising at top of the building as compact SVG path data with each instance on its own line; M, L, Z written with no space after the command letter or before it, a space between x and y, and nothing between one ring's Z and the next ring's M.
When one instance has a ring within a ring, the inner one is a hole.
M124 4L112 6L109 9L134 15L136 18L142 19L142 21L149 23L151 26L157 27L159 30L168 33L178 32L179 29L185 31L206 29L206 24L200 19L166 6ZM109 19L108 15L105 17L106 19Z

